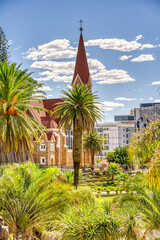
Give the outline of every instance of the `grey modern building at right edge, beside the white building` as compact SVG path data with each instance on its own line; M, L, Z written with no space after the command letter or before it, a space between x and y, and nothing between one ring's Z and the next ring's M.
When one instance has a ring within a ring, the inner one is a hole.
M141 131L160 116L160 103L142 103L134 109L135 131Z

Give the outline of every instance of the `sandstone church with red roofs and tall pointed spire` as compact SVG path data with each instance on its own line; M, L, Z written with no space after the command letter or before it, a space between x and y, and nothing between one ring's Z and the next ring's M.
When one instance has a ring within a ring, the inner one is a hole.
M74 84L85 84L86 87L92 87L92 81L89 73L89 67L84 47L82 27L80 28L80 39L73 74L72 86ZM46 108L53 111L56 103L62 99L43 99L42 103L32 102L32 105ZM63 131L59 129L60 119L54 119L45 111L38 112L35 109L29 109L28 114L39 121L47 128L46 137L41 136L41 144L33 139L34 153L33 161L43 166L73 166L72 159L72 138L71 130ZM82 150L81 166L90 166L91 157L89 152Z

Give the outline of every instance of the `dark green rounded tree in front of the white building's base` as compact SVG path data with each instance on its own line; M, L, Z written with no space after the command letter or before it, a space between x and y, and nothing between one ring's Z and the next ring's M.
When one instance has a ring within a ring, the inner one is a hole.
M115 162L123 166L130 165L128 157L128 146L118 146L113 152L109 152L106 155L108 162Z

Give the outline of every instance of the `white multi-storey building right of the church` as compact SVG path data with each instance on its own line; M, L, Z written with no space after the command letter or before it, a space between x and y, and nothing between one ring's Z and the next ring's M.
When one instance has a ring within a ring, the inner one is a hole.
M95 128L102 136L104 148L97 157L103 158L106 153L112 152L119 145L129 145L131 134L134 132L134 123L105 122Z

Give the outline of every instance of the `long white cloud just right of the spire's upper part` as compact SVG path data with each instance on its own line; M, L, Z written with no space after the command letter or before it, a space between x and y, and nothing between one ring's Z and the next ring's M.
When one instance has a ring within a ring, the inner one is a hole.
M136 41L127 41L125 39L94 39L85 43L85 46L99 46L102 49L113 49L122 52L131 52L141 47L141 43Z

